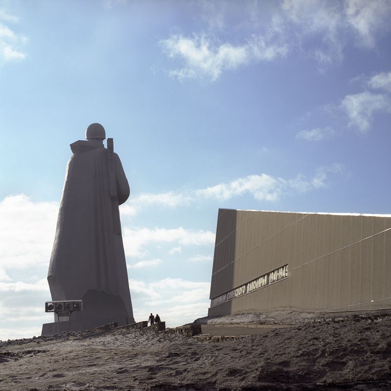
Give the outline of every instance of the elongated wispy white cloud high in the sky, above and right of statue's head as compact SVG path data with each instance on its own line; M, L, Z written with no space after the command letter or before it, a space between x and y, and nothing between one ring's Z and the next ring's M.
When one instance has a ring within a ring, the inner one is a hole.
M242 45L213 44L205 34L193 38L172 35L160 45L171 58L179 58L183 66L170 72L180 81L186 78L207 77L212 81L227 69L236 69L250 61L270 61L286 54L286 47L269 43L265 37L253 36Z

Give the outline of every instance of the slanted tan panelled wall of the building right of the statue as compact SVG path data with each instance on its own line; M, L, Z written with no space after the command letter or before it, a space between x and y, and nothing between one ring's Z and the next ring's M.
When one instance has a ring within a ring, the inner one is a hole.
M210 298L283 265L287 278L215 305L209 315L286 307L391 307L391 217L220 209Z

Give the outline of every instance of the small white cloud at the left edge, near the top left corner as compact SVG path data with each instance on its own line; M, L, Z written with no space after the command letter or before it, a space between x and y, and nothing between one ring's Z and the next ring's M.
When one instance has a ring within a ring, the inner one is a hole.
M16 22L18 22L17 17L8 14L4 9L0 9L0 60L17 61L26 58L23 46L27 38L22 34L15 33L5 24Z

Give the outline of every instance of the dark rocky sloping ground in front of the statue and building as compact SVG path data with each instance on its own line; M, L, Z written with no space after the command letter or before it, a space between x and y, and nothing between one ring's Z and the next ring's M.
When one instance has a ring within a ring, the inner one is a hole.
M196 322L291 326L222 342L150 328L1 342L0 390L391 390L391 312Z

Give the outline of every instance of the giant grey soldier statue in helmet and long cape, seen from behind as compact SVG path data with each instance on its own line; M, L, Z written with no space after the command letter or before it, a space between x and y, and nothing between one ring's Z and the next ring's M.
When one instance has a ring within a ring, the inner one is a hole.
M70 145L47 276L53 301L83 300L83 311L69 319L75 331L134 323L118 210L130 190L112 139L106 149L105 138L103 126L91 124L87 141ZM43 334L54 330L54 323L43 325Z

